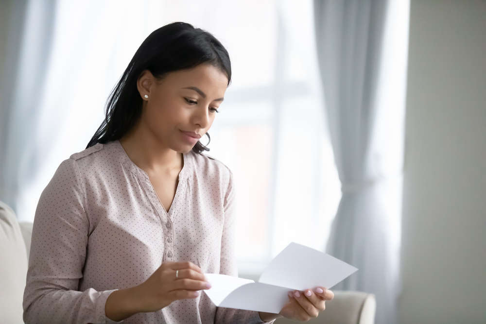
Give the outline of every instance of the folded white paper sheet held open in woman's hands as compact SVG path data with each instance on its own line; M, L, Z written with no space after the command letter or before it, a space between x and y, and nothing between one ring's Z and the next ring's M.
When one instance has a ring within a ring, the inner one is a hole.
M290 243L262 273L258 283L224 274L206 273L205 293L218 307L278 313L291 290L331 288L357 271L346 262L297 243Z

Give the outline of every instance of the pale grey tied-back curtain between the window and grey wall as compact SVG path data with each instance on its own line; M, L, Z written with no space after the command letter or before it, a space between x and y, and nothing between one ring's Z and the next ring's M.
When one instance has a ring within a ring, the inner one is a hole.
M377 296L395 323L408 46L406 0L314 0L319 65L342 183L328 253L359 271L335 289Z

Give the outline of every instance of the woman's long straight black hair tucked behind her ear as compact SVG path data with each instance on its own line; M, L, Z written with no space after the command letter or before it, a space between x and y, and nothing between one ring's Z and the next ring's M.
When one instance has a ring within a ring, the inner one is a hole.
M144 70L156 78L166 73L209 63L221 69L231 82L231 62L225 47L208 32L184 22L174 22L150 34L121 75L106 102L105 119L86 148L96 143L120 139L137 122L142 113L142 99L137 81ZM209 134L206 133L208 139ZM192 151L209 149L198 141Z

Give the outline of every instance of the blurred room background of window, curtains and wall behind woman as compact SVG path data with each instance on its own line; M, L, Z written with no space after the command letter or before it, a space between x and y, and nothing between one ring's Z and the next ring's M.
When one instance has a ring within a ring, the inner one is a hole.
M214 34L209 131L234 173L240 276L295 241L360 269L377 324L486 323L486 1L0 0L0 200L33 221L143 39Z

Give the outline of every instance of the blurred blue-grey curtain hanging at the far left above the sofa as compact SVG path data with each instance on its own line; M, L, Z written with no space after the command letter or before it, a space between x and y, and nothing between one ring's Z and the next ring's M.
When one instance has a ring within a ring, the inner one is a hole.
M8 51L0 82L0 200L20 214L20 219L19 191L35 180L43 155L35 139L55 2L12 1L8 8Z

